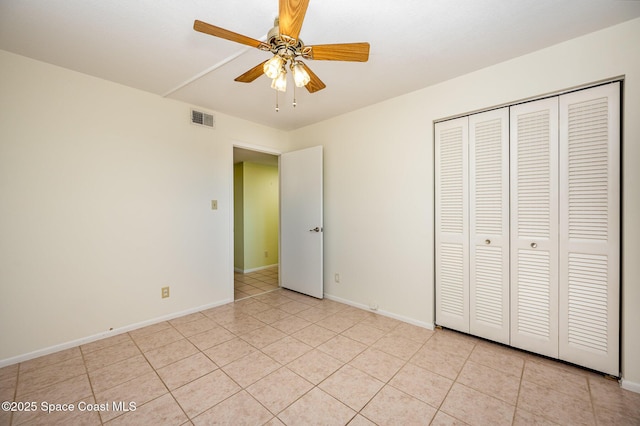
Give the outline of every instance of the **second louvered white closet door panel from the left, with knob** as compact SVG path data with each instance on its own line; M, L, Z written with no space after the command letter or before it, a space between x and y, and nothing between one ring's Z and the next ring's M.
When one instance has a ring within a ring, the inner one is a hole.
M469 326L509 343L509 108L469 116Z

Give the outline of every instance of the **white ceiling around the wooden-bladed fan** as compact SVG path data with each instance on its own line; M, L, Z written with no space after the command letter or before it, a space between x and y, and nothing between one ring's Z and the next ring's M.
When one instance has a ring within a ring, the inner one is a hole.
M270 55L193 30L264 39L276 0L0 0L0 49L291 130L640 16L626 0L311 0L305 44L368 41L367 63L307 61L327 88L280 96L235 77ZM283 99L284 98L284 99Z

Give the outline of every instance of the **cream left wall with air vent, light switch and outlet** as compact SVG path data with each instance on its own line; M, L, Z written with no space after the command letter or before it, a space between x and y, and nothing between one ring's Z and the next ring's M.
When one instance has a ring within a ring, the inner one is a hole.
M286 133L3 51L0 94L0 366L233 300L233 144Z

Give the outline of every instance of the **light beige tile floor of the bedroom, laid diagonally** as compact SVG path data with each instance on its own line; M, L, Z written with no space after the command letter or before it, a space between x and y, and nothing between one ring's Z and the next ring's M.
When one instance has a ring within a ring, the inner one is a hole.
M35 403L1 425L640 424L592 372L282 289L2 368L0 400Z

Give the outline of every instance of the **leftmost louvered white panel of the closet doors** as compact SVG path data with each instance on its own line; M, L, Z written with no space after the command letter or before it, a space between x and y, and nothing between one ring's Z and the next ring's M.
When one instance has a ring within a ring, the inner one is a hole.
M436 324L469 332L468 118L435 125Z

